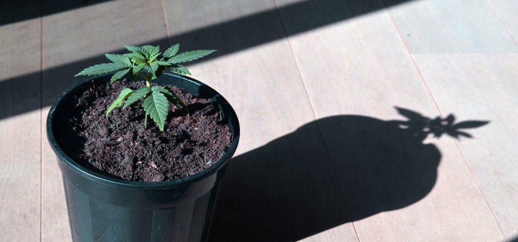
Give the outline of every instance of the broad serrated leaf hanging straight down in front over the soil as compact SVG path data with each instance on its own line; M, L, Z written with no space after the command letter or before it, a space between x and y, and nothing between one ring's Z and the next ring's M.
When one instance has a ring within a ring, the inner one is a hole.
M156 124L159 125L160 131L164 131L164 124L169 112L169 102L165 95L159 91L151 91L143 101L142 107Z

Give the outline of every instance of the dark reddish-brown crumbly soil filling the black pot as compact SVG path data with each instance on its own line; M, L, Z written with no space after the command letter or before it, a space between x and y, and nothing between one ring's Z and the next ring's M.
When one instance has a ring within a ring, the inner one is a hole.
M169 105L164 132L137 102L125 109L106 109L125 88L145 86L127 80L97 85L78 97L78 104L63 124L60 146L88 169L131 181L167 181L210 167L231 143L228 125L210 99L200 99L175 86L170 88L188 105Z

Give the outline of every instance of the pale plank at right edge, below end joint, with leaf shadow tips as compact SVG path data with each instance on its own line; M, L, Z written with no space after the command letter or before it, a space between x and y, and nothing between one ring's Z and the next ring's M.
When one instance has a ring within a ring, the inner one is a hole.
M518 54L416 55L437 102L459 119L487 120L458 142L507 236L518 236Z

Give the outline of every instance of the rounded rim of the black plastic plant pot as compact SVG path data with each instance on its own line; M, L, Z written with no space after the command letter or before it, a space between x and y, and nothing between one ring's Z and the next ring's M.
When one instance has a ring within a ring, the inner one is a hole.
M186 186L186 185L192 184L194 182L197 182L199 180L203 180L204 178L207 178L208 176L212 175L214 172L217 172L221 167L223 167L223 165L225 165L226 162L234 155L234 153L236 152L236 149L237 149L237 145L239 143L240 130L239 130L239 120L237 118L236 112L234 111L232 106L228 103L228 101L226 101L226 99L223 98L223 96L220 93L218 93L217 91L215 91L208 85L200 82L199 80L196 80L196 79L188 77L188 76L184 76L184 75L180 75L180 74L176 74L176 73L169 73L169 72L164 72L162 75L163 76L168 75L168 76L172 76L175 78L181 78L196 86L204 86L204 88L208 89L210 92L212 92L214 94L214 96L216 96L216 98L218 99L218 104L221 105L220 109L228 110L228 114L227 114L228 118L233 120L232 125L230 125L233 139L232 139L230 146L228 147L227 152L225 152L223 157L221 157L219 160L217 160L217 162L215 162L209 168L207 168L203 171L200 171L196 174L185 176L184 178L180 178L180 179L161 181L161 182L138 182L138 181L122 180L122 179L112 178L110 176L97 173L93 170L90 170L90 169L87 169L87 168L81 166L79 163L77 163L75 160L73 160L67 154L65 154L65 152L59 146L59 144L57 144L57 141L54 136L53 129L52 129L52 120L54 117L54 111L61 103L61 100L65 98L65 96L70 94L76 88L79 88L81 85L84 85L85 83L92 82L93 80L95 80L97 78L102 78L102 77L106 76L106 75L98 75L98 76L93 76L93 77L84 79L84 80L72 85L71 87L69 87L66 91L62 92L61 95L54 101L54 103L52 104L52 106L49 110L49 114L47 115L47 124L46 124L47 125L47 139L48 139L48 142L49 142L52 150L56 154L57 158L59 158L61 160L58 162L64 163L68 168L70 168L71 170L77 172L78 174L80 174L81 176L84 176L85 178L87 178L89 180L103 183L106 185L123 187L123 188L127 188L127 189L137 189L137 190L150 190L150 189L151 190L162 190L162 189L170 189L170 188Z

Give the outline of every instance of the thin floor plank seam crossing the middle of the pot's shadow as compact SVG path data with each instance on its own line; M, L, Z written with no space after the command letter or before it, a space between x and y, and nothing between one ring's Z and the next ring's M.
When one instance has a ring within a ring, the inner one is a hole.
M286 37L286 42L290 48L290 53L292 55L292 58L295 62L295 67L297 68L297 71L298 71L298 74L299 74L299 77L300 77L300 82L302 83L303 87L304 87L304 91L306 92L306 98L308 100L308 103L311 107L311 112L313 113L313 118L314 120L316 121L315 124L316 124L316 127L318 128L319 130L319 135L320 135L320 138L322 139L322 143L324 144L324 148L326 150L326 154L327 154L327 157L329 159L329 161L331 162L331 166L333 167L333 174L335 176L335 179L338 181L338 174L336 173L336 168L335 168L335 165L334 165L334 162L332 157L331 157L331 154L329 152L329 147L324 139L324 135L322 134L322 128L320 127L319 125L319 122L318 122L318 119L317 119L317 115L316 115L316 112L315 112L315 108L314 108L314 105L313 105L313 102L311 101L311 98L309 96L309 92L308 92L308 87L306 85L306 82L304 80L304 75L302 74L302 72L300 71L300 66L299 66L299 63L297 61L297 57L295 55L295 52L293 50L293 46L291 44L291 40L290 40L290 36L288 35L287 33L287 30L286 30L286 25L284 24L284 21L282 19L282 14L281 14L281 11L279 10L279 4L277 3L277 0L274 0L274 3L275 3L275 8L277 10L277 14L279 15L279 21L281 22L281 26L282 26L282 30L284 31L284 36ZM344 199L345 196L343 195L343 191L340 189L340 195L342 197L342 201L343 202L346 202L347 200ZM347 205L347 204L346 204ZM349 211L348 211L349 212ZM352 215L349 214L350 218L352 218ZM352 221L351 219L351 224L353 225L353 229L354 229L354 233L356 235L356 239L358 240L358 242L360 242L360 239L359 239L359 235L358 235L358 231L356 230L356 226L354 224L354 221Z

